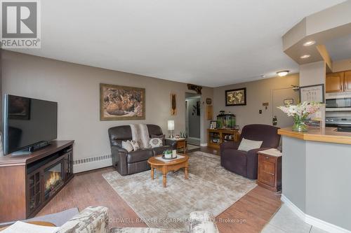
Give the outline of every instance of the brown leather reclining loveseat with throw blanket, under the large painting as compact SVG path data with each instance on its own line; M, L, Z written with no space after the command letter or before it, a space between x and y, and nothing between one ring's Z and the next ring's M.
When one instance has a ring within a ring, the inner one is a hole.
M150 138L153 135L163 135L161 127L158 125L147 125L147 129ZM149 170L150 165L147 164L147 160L150 157L160 155L164 150L176 150L177 147L176 141L166 139L165 145L159 148L141 149L128 153L127 150L122 148L121 144L122 141L132 140L131 127L129 125L112 127L109 129L108 133L112 154L112 166L122 176Z

